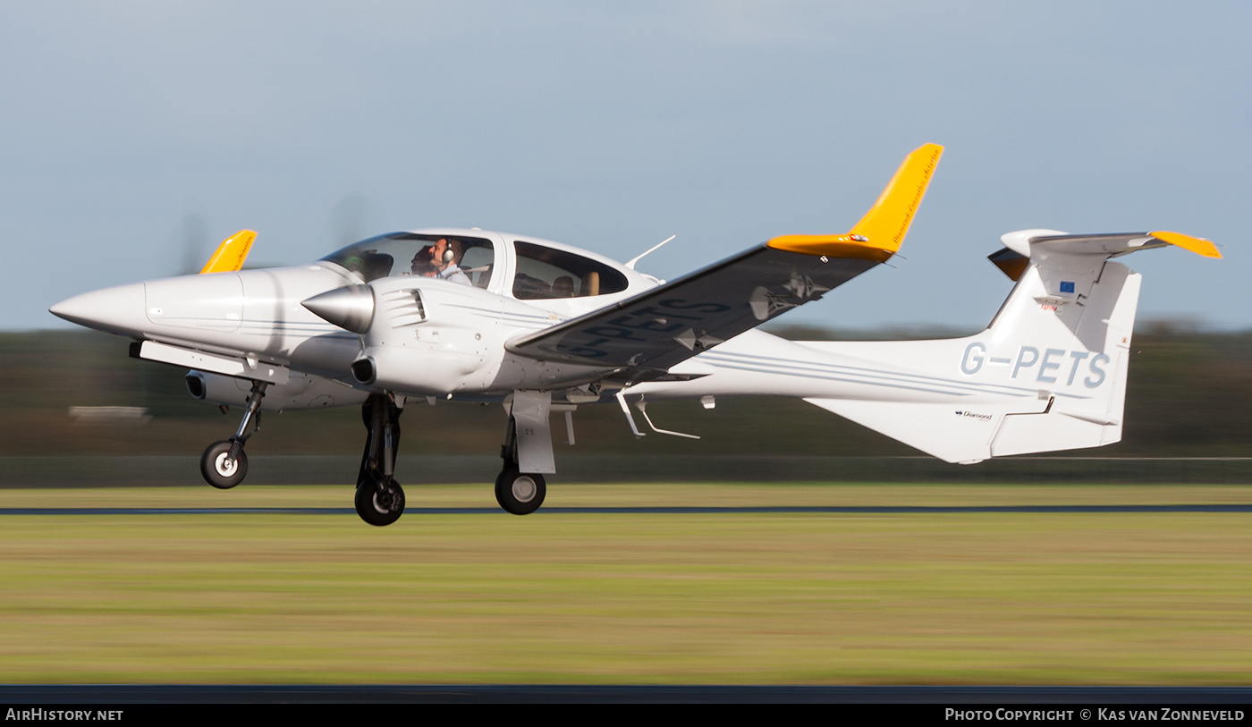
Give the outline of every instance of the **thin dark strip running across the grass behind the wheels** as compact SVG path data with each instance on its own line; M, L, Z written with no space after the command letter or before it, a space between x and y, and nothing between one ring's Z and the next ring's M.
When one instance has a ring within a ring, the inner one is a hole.
M354 514L339 507L9 507L0 516L202 516L202 514ZM407 516L496 516L496 507L409 507ZM1252 513L1252 504L1040 504L1040 506L855 506L855 507L546 507L542 514L965 514L965 513Z

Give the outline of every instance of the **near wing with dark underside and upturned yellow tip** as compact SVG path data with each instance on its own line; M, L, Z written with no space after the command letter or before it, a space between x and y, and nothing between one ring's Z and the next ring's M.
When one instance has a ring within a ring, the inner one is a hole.
M785 235L646 293L507 344L541 360L665 370L886 262L943 146L913 151L844 235Z

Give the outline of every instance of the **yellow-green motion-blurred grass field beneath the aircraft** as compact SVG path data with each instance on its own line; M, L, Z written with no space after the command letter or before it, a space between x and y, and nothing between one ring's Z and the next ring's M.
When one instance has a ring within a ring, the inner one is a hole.
M347 487L0 507L351 507ZM411 508L495 507L408 488ZM1249 503L1252 487L642 484L548 506ZM0 683L1249 684L1243 514L0 517Z

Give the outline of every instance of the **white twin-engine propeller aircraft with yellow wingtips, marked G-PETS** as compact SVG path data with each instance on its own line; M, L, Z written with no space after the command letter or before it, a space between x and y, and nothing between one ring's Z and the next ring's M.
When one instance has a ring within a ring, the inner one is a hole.
M646 403L781 395L948 462L1099 447L1122 437L1137 273L1111 258L1178 233L1022 230L990 255L1017 282L987 330L904 342L791 342L754 330L885 263L900 248L943 148L910 154L841 235L785 235L669 283L635 263L478 229L393 233L312 265L242 270L255 234L223 241L200 275L58 303L66 320L134 339L131 355L189 367L190 393L242 405L234 437L204 452L209 484L248 472L262 410L361 404L368 434L356 506L396 522L399 415L409 402L501 402L500 506L535 512L556 472L550 415L616 402L655 432ZM655 249L655 248L654 248ZM646 253L645 253L646 254ZM642 257L642 255L641 255Z

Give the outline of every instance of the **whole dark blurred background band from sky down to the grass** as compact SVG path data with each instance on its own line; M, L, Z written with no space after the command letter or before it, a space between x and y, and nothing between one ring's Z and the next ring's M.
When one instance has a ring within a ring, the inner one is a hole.
M808 327L774 332L848 337ZM126 348L94 332L0 334L0 484L203 484L200 452L234 433L240 410L223 415L187 393L184 369L128 358ZM1252 482L1252 333L1148 322L1132 352L1123 440L1098 449L954 465L800 400L719 398L712 410L695 400L649 407L657 427L700 440L635 439L615 405L583 405L573 415L576 444L567 447L553 418L560 477ZM500 405L411 403L401 419L402 480L491 482L505 423ZM249 482L348 484L363 443L357 407L264 414L248 442Z

